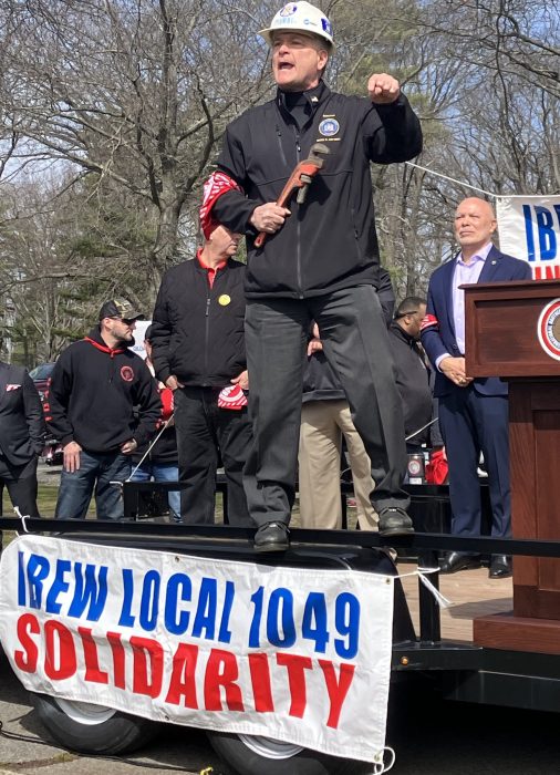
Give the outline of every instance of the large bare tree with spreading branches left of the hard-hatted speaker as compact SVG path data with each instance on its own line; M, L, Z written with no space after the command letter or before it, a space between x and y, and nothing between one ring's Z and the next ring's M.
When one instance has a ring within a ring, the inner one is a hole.
M3 6L29 152L155 209L153 298L226 122L268 89L247 18L201 0Z

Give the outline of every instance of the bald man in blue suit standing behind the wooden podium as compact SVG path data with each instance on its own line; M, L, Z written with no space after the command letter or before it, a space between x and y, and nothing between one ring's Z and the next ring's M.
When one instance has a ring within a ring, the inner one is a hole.
M511 534L509 484L508 386L499 378L473 379L465 371L465 293L473 282L529 280L530 266L497 250L491 242L496 216L489 203L464 199L455 214L460 254L431 277L422 343L436 370L434 395L439 399L439 425L449 463L452 530L480 535L478 461L484 454L492 510L491 534ZM442 572L480 565L477 555L452 551ZM494 555L490 578L511 575L511 559Z

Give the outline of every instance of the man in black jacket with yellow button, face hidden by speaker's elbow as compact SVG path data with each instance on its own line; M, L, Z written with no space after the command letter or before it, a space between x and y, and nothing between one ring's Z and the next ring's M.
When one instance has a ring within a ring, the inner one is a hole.
M251 440L245 391L245 270L234 260L241 235L212 217L235 183L214 174L200 208L204 246L169 269L152 321L156 376L174 391L184 523L212 524L216 469L227 479L228 518L249 526L242 471Z

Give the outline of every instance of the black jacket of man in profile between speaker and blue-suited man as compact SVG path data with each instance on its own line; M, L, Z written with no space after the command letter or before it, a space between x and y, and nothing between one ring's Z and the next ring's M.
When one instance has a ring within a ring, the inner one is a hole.
M418 342L404 331L397 322L391 323L393 359L395 361L396 386L403 401L404 430L409 436L429 423L433 413L429 370ZM431 436L429 426L408 440L409 444L423 444Z

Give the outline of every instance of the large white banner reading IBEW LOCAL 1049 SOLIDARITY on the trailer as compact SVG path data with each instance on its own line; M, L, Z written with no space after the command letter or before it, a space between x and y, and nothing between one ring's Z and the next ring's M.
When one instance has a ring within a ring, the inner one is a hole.
M23 685L381 761L393 579L21 536L0 640Z

